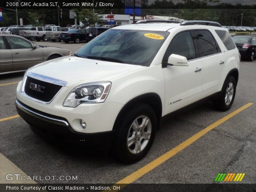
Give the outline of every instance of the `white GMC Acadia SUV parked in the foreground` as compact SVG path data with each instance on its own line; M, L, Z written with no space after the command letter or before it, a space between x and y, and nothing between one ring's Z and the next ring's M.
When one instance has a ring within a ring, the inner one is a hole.
M166 114L209 96L228 110L239 63L228 30L216 22L142 21L30 68L16 108L37 134L111 148L133 163L148 153Z

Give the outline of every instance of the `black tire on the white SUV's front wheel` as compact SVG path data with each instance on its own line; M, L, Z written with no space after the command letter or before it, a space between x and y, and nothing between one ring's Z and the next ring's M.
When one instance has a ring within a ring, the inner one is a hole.
M148 123L142 129L139 126L132 128L132 124L136 120L138 125L142 125L147 120ZM136 104L127 110L118 119L118 122L116 125L116 139L111 149L112 156L126 164L142 159L150 150L156 135L157 120L153 109L147 104ZM128 147L128 138L132 140L130 147ZM139 142L141 148L137 148Z

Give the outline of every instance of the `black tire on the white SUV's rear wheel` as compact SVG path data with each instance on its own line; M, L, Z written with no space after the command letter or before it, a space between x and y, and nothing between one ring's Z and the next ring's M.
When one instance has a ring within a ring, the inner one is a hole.
M231 85L233 85L233 94L231 98ZM230 91L228 91L230 89ZM229 76L224 82L220 97L213 101L214 108L220 111L227 111L230 109L236 96L236 80L233 76ZM230 99L231 98L231 99Z

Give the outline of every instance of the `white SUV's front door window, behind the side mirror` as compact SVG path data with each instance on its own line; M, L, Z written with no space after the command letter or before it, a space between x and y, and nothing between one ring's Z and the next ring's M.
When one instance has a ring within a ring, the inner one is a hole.
M164 55L163 62L167 62L171 54L184 56L187 60L196 58L194 43L189 31L182 32L174 37Z

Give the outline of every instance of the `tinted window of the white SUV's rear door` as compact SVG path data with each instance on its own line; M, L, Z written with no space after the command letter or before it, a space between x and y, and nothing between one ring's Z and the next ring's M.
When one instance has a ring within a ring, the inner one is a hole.
M220 52L220 48L214 37L208 30L194 30L193 39L196 42L200 57L216 54Z

